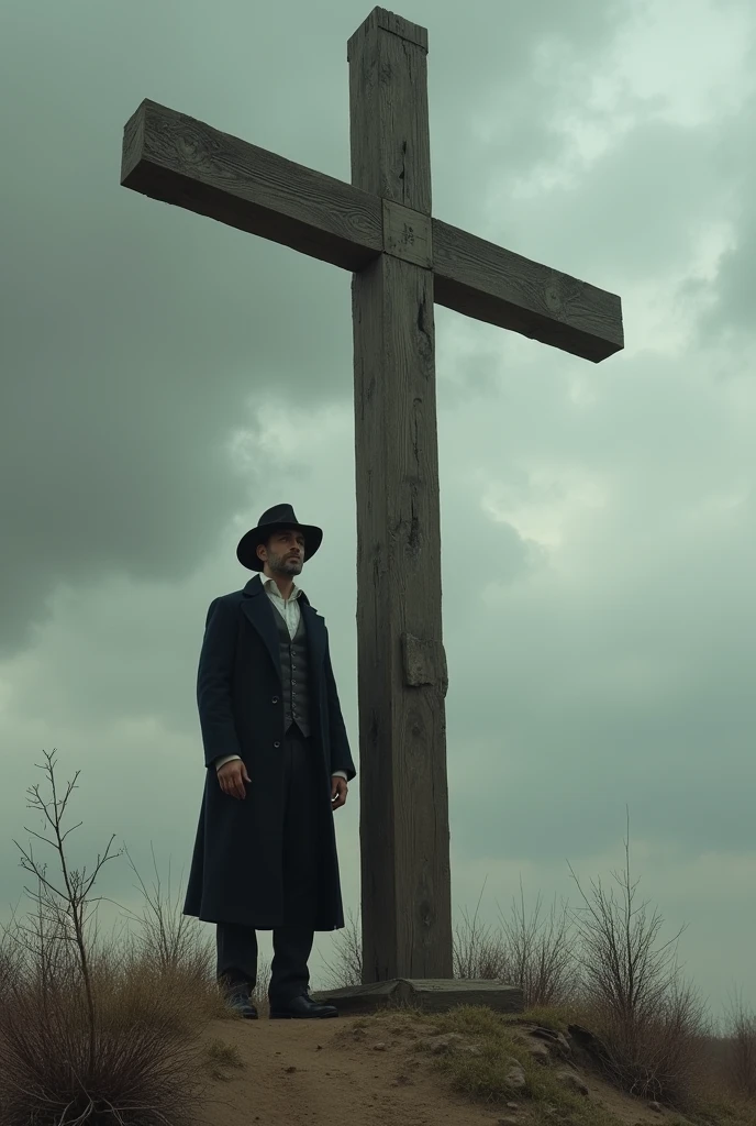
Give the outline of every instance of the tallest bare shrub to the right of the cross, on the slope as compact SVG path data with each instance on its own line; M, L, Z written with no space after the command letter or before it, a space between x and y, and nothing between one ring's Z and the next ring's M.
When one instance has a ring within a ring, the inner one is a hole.
M680 1105L700 1064L705 1010L682 978L682 928L662 942L663 917L656 909L649 912L647 901L637 901L629 826L624 851L624 869L612 873L619 896L601 879L584 891L569 869L583 900L570 911L579 940L583 1003L604 1042L611 1078L633 1094Z

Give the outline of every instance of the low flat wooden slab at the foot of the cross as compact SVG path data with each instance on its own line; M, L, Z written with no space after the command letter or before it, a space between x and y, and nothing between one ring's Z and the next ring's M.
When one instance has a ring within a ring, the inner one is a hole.
M332 1001L344 1017L402 1006L416 1007L424 1012L447 1012L458 1004L485 1006L496 1012L523 1010L522 990L496 981L398 977L370 985L321 990L312 995L317 1001Z

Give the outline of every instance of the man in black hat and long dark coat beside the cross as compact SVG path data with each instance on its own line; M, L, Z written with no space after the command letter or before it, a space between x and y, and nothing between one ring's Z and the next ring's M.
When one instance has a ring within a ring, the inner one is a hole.
M216 923L217 976L248 1019L258 930L273 932L273 1018L338 1016L309 997L316 930L344 926L333 812L356 770L328 633L295 583L321 546L290 504L260 517L236 556L258 572L216 598L199 658L207 777L183 913Z

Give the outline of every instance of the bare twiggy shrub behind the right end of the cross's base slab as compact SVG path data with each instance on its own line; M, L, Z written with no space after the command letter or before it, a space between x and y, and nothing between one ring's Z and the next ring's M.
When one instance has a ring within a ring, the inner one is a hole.
M520 881L520 900L512 901L511 914L502 915L503 963L500 976L522 989L526 1009L566 1006L576 995L575 930L567 904L542 914L538 895L530 914Z

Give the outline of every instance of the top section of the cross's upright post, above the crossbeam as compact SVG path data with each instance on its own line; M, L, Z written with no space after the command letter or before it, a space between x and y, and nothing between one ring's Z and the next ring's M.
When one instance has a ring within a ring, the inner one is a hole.
M428 57L375 12L349 41L352 184L431 214Z

